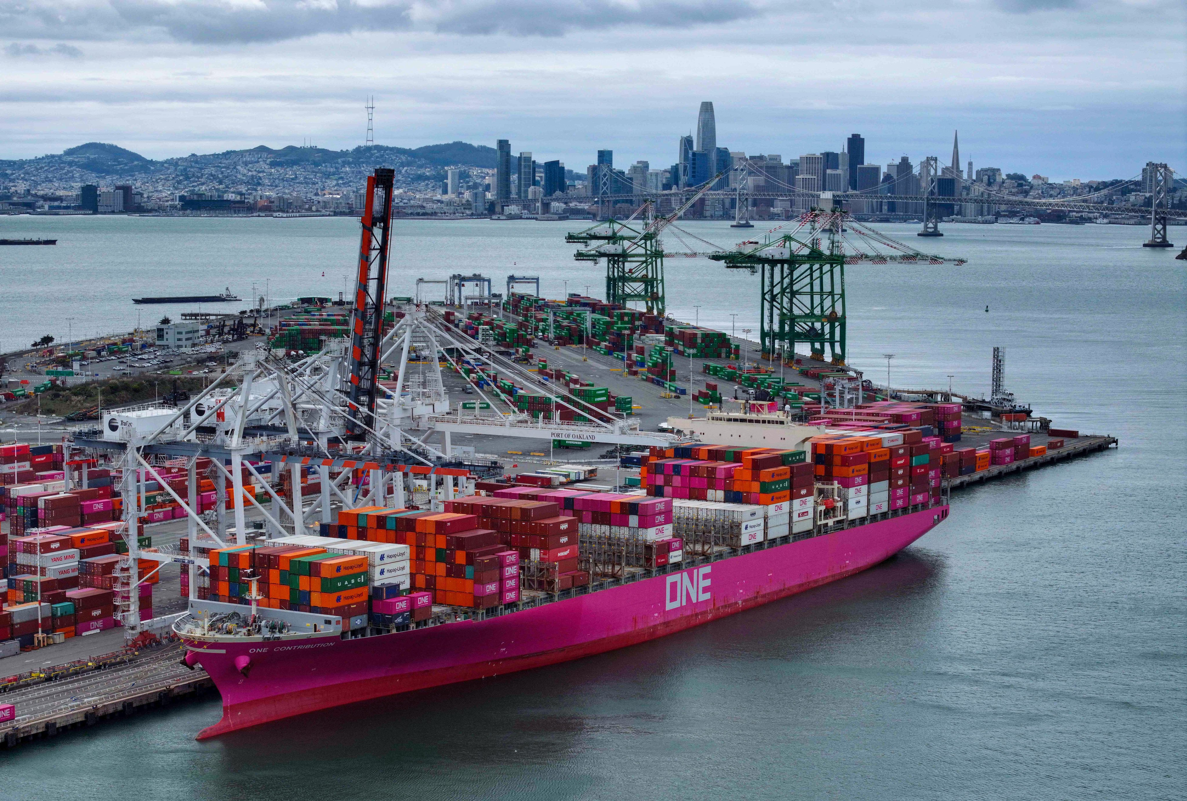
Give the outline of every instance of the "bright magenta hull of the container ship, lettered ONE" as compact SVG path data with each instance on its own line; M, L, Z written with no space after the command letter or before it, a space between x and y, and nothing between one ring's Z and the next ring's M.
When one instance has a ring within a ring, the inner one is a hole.
M356 640L186 640L223 699L222 719L198 739L675 634L871 567L926 534L947 511L932 507L484 621ZM240 669L245 657L246 675Z

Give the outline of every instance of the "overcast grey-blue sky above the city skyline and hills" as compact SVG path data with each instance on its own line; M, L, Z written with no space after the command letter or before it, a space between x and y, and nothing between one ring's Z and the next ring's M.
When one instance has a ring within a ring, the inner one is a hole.
M584 171L717 142L1187 172L1183 0L0 0L0 158L461 139ZM963 165L961 165L963 166Z

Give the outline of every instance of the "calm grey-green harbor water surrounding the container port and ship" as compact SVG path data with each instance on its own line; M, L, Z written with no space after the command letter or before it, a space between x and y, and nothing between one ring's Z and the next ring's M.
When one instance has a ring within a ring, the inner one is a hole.
M602 297L563 240L579 227L399 221L393 293L481 272ZM211 694L0 754L0 799L1183 797L1185 262L1132 227L878 228L969 262L848 267L851 363L881 383L894 354L893 386L979 395L1002 345L1020 400L1121 446L963 490L897 558L698 629L197 743ZM145 294L337 297L358 241L344 218L26 216L0 235L58 239L0 249L0 350L63 339L66 317L75 337L131 329ZM749 273L673 258L667 297L756 336Z

